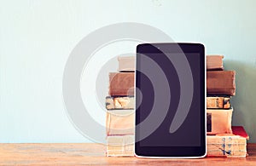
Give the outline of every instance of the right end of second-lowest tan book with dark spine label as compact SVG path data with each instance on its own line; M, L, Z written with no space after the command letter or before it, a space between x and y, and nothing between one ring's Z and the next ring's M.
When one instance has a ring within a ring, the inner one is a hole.
M207 135L232 134L233 108L207 109Z

